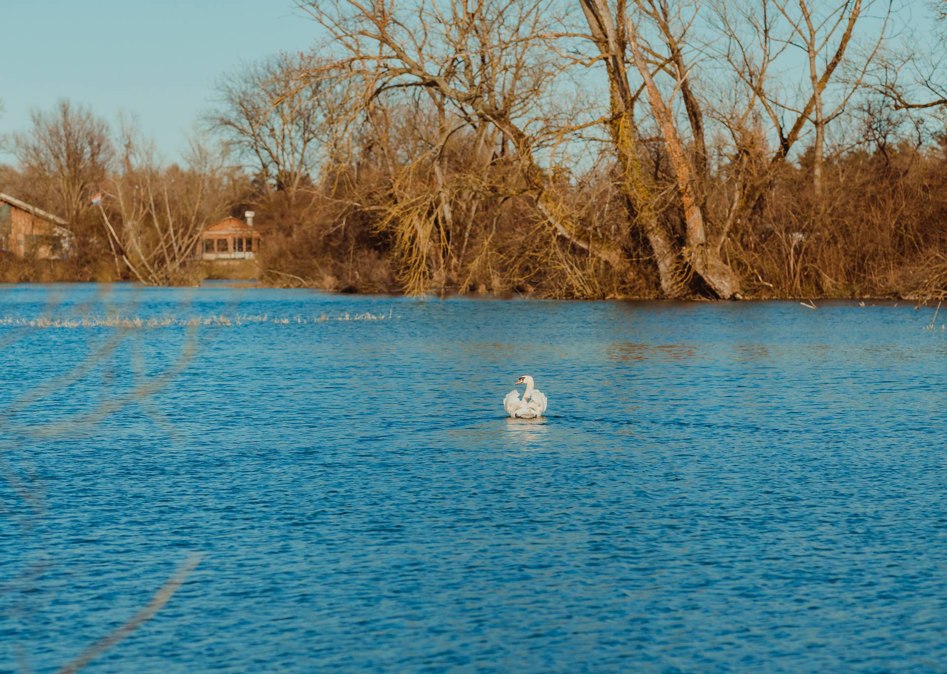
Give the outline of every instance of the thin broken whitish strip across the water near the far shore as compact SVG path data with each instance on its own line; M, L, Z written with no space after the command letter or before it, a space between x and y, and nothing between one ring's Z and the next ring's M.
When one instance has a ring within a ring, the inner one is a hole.
M160 319L142 319L141 317L123 317L120 314L115 316L86 316L81 319L53 319L40 317L38 319L27 319L23 317L3 317L0 318L0 327L24 327L24 328L168 328L182 327L192 328L199 326L230 327L233 325L254 325L268 323L271 325L309 325L312 323L337 322L347 320L397 320L402 317L393 316L389 311L387 314L372 314L365 312L363 314L341 314L339 316L320 316L307 317L297 314L293 317L277 317L269 314L237 314L233 317L228 316L195 316L187 319L178 319L172 317L162 317Z

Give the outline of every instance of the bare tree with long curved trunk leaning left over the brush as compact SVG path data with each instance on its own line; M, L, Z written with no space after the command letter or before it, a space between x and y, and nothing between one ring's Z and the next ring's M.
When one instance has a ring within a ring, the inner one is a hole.
M422 87L450 101L469 127L482 122L499 133L496 153L510 153L525 190L551 230L571 245L627 270L619 246L575 222L536 150L563 133L551 120L549 92L564 64L546 47L563 19L542 2L462 0L411 5L393 2L300 2L344 53L335 65L364 82L364 100L405 87Z

